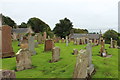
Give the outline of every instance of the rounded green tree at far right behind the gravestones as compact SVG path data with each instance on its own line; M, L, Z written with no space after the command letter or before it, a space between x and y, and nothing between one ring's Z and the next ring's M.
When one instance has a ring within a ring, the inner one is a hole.
M115 30L108 30L104 33L105 43L110 43L111 38L118 41L118 33Z

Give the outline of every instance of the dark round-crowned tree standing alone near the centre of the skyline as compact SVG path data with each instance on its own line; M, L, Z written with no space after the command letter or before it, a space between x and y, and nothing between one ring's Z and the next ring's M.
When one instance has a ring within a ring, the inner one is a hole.
M53 32L59 36L59 37L64 37L68 36L70 34L70 31L73 27L72 22L64 18L62 20L59 20L60 22L55 25L55 28L53 29Z

